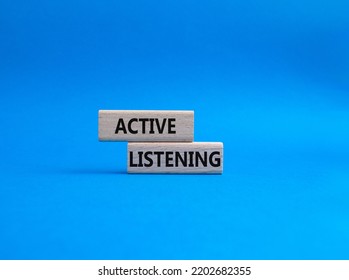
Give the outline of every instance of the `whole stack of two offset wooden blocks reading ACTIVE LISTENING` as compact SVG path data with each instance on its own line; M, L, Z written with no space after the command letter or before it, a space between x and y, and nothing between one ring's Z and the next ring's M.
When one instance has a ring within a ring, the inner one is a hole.
M98 137L128 142L128 173L223 172L223 143L193 142L194 111L100 110Z

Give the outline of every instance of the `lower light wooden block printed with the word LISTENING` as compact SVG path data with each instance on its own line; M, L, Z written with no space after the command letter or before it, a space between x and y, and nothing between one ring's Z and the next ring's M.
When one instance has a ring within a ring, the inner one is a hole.
M223 173L223 143L128 143L128 173Z

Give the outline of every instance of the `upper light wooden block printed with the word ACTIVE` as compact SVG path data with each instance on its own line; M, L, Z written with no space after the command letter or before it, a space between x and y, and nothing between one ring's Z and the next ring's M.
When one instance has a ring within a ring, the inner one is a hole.
M192 142L194 111L98 112L100 141Z

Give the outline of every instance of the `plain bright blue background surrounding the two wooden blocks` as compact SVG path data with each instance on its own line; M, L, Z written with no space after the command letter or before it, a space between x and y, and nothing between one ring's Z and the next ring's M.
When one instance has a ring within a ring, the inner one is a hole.
M348 259L347 1L0 1L1 259ZM193 109L224 174L127 175L98 109Z

